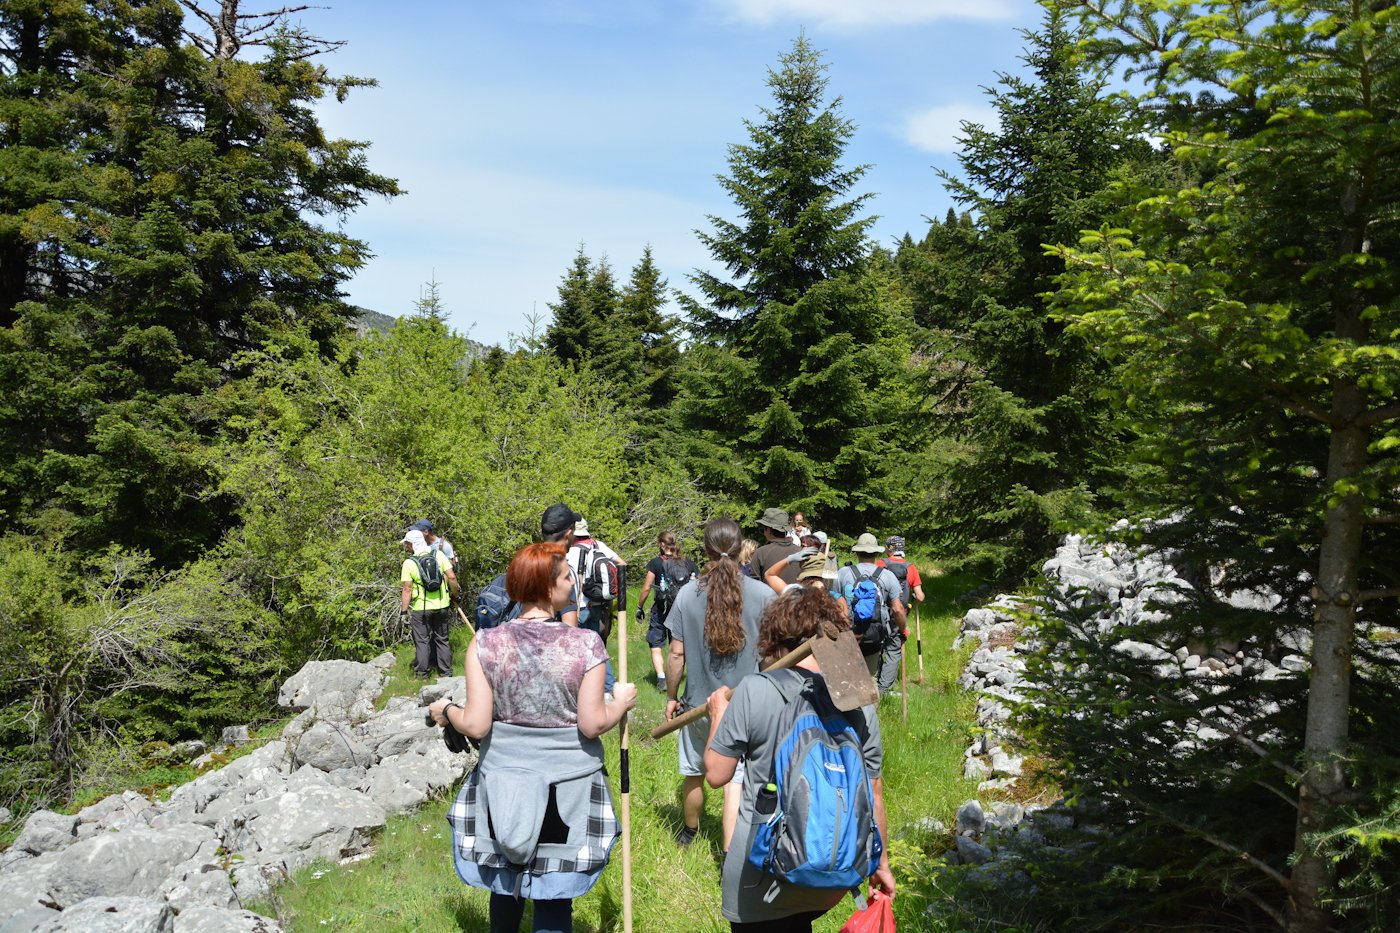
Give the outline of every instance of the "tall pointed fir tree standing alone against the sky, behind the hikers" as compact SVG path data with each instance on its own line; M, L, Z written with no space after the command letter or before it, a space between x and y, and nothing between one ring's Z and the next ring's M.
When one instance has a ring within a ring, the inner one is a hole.
M704 301L686 303L690 324L714 343L687 354L678 440L713 489L854 528L879 506L897 416L875 399L903 363L900 328L867 276L865 167L841 165L855 127L826 99L820 53L799 36L767 85L773 105L720 178L739 220L700 234L731 277L692 276Z

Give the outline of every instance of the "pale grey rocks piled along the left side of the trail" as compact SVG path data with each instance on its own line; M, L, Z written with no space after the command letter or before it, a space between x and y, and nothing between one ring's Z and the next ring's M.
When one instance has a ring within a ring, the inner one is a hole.
M462 678L375 710L392 665L392 654L307 664L279 693L302 710L280 738L168 800L127 792L74 815L32 814L0 855L0 933L274 933L244 904L318 859L363 855L389 814L473 763L423 721L423 705L465 699ZM246 727L225 740L246 741Z

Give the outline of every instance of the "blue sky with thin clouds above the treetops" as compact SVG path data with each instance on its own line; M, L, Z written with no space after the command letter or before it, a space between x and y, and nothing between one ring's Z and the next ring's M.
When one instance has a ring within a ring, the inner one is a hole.
M694 230L734 217L715 175L769 104L767 69L799 31L869 163L874 237L921 235L951 202L960 119L1016 71L1029 0L330 0L302 24L346 39L321 62L379 81L326 102L328 133L371 143L407 195L344 221L375 258L350 300L406 314L435 277L449 321L486 343L525 332L578 247L619 280L651 245L671 286L708 268Z

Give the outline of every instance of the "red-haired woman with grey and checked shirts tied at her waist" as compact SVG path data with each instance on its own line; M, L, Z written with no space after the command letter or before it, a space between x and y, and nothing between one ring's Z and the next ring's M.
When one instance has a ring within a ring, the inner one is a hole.
M608 649L559 621L574 597L560 544L526 545L505 572L519 616L466 649L466 706L428 707L440 726L482 740L480 759L448 811L452 859L466 884L491 892L493 933L518 930L525 899L535 930L573 929L573 898L602 874L617 818L599 735L637 705L637 688L603 702Z

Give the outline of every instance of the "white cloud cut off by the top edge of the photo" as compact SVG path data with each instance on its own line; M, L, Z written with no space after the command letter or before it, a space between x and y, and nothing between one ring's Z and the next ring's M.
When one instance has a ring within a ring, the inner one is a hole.
M717 0L736 20L771 25L892 27L939 20L1009 20L1014 0Z

